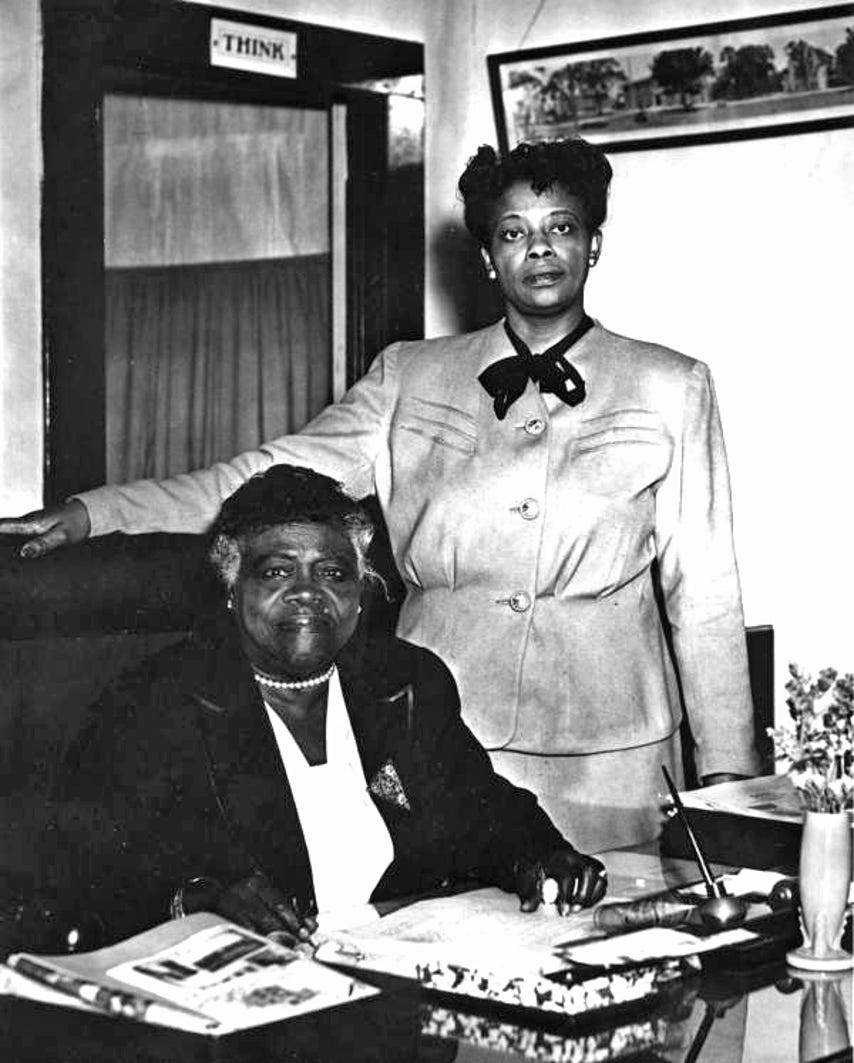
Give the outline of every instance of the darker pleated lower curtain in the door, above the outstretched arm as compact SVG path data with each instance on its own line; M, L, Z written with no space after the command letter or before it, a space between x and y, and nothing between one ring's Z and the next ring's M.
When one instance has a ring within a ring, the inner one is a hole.
M106 273L107 482L296 432L331 398L329 255Z

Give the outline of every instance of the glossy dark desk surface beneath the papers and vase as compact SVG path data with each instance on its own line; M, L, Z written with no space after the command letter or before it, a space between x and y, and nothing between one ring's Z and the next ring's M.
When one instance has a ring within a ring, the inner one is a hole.
M616 894L696 879L651 854L604 854ZM818 1063L851 1060L851 976L804 982L782 958L707 971L603 1020L533 1025L391 982L371 999L220 1041L0 998L7 1063Z

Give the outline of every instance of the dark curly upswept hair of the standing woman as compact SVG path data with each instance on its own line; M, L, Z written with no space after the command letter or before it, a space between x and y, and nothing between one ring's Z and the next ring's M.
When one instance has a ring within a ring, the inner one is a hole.
M592 232L605 221L613 173L604 152L581 137L522 142L507 155L481 145L457 185L466 227L482 247L488 248L496 204L510 185L521 181L537 195L560 185L577 196Z

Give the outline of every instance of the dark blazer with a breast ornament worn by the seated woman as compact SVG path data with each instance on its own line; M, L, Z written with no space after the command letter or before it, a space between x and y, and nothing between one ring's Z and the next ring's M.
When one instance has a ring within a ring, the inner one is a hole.
M354 640L338 669L395 846L372 899L471 878L513 889L518 861L567 844L533 794L492 771L435 655ZM257 870L313 901L272 729L222 621L125 674L95 706L61 773L44 878L67 913L97 912L113 940L165 919L189 878L232 883Z

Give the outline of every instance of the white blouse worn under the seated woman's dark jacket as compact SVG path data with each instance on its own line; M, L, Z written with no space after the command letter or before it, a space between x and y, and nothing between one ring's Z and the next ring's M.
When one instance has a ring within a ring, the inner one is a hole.
M305 837L318 912L367 904L395 847L368 793L337 671L329 685L324 764L309 764L281 716L266 708Z

